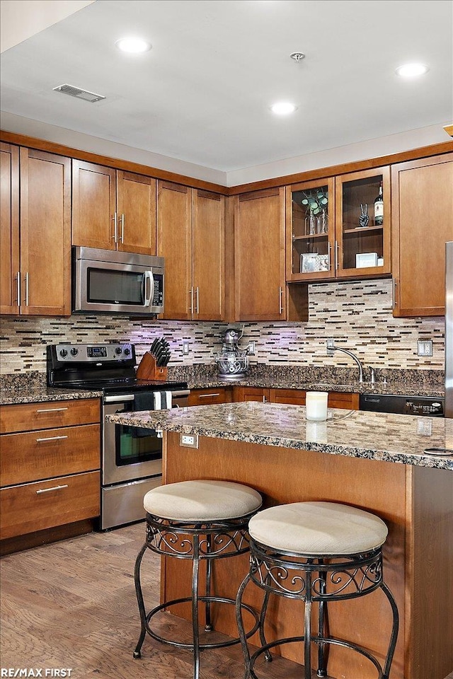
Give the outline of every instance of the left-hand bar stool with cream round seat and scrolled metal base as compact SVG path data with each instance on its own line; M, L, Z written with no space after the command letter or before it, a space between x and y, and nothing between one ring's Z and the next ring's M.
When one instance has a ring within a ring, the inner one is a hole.
M137 555L134 569L135 591L139 605L142 629L134 650L134 658L141 656L144 637L151 637L164 644L193 651L193 677L200 675L200 651L218 649L239 644L236 637L223 642L200 643L198 604L205 608L205 632L212 631L211 605L236 604L235 599L214 596L212 569L215 559L235 557L248 552L248 520L260 508L262 498L256 490L239 483L228 481L182 481L151 489L144 496L146 515L146 540ZM190 596L166 601L149 613L145 610L140 566L147 550L164 557L189 559L192 562L192 591ZM198 592L200 562L206 564L205 596ZM161 610L169 609L179 603L192 605L193 639L184 643L177 639L166 639L151 627L151 620ZM246 637L258 629L259 617L248 605L243 605L253 616L253 629Z

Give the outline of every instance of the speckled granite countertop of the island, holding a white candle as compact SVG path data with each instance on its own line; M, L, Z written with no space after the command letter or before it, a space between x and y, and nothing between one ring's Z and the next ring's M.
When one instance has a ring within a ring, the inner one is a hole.
M308 422L301 406L242 402L108 415L106 420L453 471L453 419L329 410L327 422ZM447 456L429 455L425 448L452 452Z

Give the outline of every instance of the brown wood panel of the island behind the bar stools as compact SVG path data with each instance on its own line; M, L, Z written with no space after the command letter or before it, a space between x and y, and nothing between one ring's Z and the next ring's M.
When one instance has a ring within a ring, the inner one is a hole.
M339 501L380 516L389 526L384 579L394 593L400 615L391 679L443 679L448 674L453 651L445 642L451 637L445 635L451 629L452 614L445 601L453 592L453 576L452 555L442 545L449 544L453 530L451 475L380 460L205 437L200 437L199 448L194 450L181 448L176 433L166 434L164 448L167 483L197 478L233 480L261 492L264 506L304 500ZM234 597L247 568L246 555L217 562L217 593ZM436 581L434 569L442 573L442 584ZM162 595L166 599L187 596L190 563L166 559L163 574ZM276 620L279 637L299 634L303 623L302 603L275 599L270 607L268 641L275 633ZM249 586L244 600L258 607L262 595L258 588ZM230 608L217 611L214 624L216 629L234 635L236 622ZM183 610L177 613L186 615ZM331 634L355 640L382 661L391 625L391 610L382 591L331 605L329 624ZM302 649L294 648L287 646L284 654L301 662ZM328 674L345 679L375 677L370 663L337 647L329 651Z

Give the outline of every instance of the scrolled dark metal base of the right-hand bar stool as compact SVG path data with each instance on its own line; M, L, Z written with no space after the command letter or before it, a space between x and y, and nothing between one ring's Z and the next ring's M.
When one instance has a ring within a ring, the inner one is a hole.
M242 597L246 586L253 582L265 592L260 610L260 648L250 654L247 637L243 629ZM376 657L362 646L345 639L332 637L328 632L328 604L334 601L351 600L366 596L367 593L384 592L391 606L392 629L386 658L382 666ZM304 635L265 639L265 617L270 595L282 596L304 602ZM312 634L311 610L319 608L319 623ZM270 650L277 646L302 643L304 652L304 679L311 679L311 645L318 647L319 677L327 675L328 658L326 651L331 645L343 646L362 655L377 670L377 679L388 679L398 636L398 608L391 591L382 577L382 547L360 554L306 555L299 552L283 552L250 540L250 569L243 579L236 596L236 620L244 656L244 679L260 679L254 670L256 660L264 655L271 661Z

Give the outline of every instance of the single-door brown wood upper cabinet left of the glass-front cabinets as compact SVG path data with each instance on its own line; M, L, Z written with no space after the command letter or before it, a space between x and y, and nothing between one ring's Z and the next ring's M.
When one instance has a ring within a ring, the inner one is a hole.
M285 283L285 188L234 198L235 320L306 320L306 286Z

